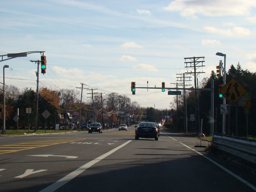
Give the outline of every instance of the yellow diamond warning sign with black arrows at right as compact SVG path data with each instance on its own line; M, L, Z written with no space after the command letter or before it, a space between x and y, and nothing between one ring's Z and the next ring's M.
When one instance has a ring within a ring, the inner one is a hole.
M227 84L220 90L220 93L232 104L234 105L244 93L246 89L238 83L235 78L232 78L228 81Z

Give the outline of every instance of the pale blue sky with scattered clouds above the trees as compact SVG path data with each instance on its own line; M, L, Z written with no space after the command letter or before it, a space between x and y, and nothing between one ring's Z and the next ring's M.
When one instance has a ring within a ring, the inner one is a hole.
M184 58L204 57L197 69L204 72L197 76L201 82L224 62L217 52L227 55L226 70L239 62L256 72L255 0L1 0L0 19L0 56L44 51L39 86L81 91L83 83L98 93L126 95L141 107L169 109L176 96L138 88L132 95L131 82L176 87L179 74L191 71ZM40 56L1 61L9 65L5 84L36 90L31 60ZM84 89L84 101L89 92Z

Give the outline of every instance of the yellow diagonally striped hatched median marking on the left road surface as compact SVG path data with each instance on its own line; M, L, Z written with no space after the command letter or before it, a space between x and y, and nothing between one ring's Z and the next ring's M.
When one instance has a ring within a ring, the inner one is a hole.
M39 148L39 147L46 147L46 146L50 146L50 145L74 142L74 141L85 140L85 139L86 138L73 138L73 139L69 138L69 139L57 139L57 140L35 141L35 142L30 142L30 143L2 145L2 146L0 146L0 154L12 153L12 152L16 152L16 151L22 151L22 150L27 150L27 149L32 149L32 148ZM28 146L28 147L26 147L26 146ZM8 148L9 149L17 148L17 150L5 150ZM22 149L20 149L20 148L22 148Z

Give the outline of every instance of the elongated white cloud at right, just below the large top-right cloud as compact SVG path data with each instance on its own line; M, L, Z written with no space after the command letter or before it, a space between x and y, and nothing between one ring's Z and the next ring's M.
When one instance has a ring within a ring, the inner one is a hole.
M242 27L234 27L233 29L223 30L215 27L204 27L204 31L208 33L216 33L223 36L229 37L242 37L249 36L250 30Z

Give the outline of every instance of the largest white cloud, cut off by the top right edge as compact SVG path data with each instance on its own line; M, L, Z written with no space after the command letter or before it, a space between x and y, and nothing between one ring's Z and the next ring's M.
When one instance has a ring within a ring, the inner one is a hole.
M256 7L255 0L174 0L165 11L180 11L183 17L194 17L195 14L204 16L250 15L252 7Z

